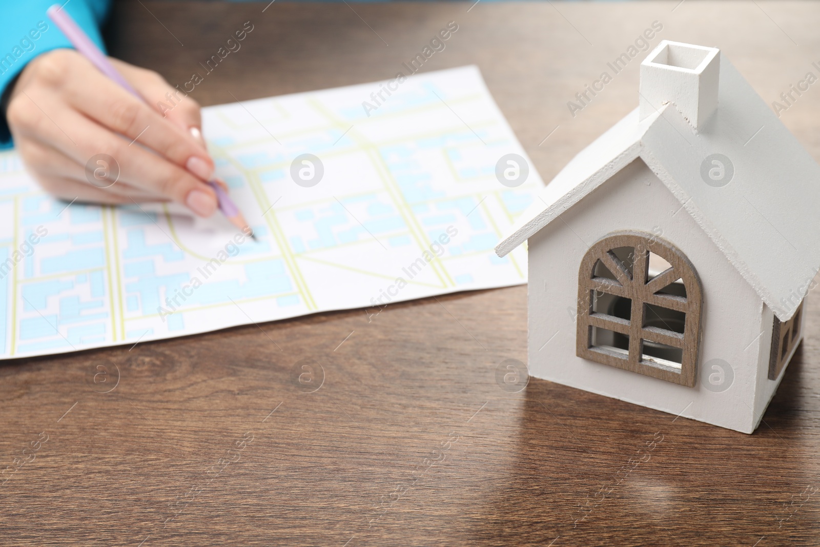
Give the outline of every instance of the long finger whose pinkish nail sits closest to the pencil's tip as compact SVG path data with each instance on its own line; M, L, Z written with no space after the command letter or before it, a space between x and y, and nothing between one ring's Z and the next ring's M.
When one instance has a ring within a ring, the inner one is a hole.
M80 165L98 153L111 156L120 166L120 179L128 185L185 203L200 217L216 211L213 189L189 171L139 146L130 145L119 135L94 123L70 108L52 109L52 125L40 124L32 139L50 143ZM71 141L58 128L69 128ZM25 129L23 130L25 133Z

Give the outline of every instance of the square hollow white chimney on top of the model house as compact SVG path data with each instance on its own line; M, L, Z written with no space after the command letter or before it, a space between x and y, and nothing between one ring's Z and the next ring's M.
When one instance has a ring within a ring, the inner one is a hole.
M640 63L640 119L666 103L697 128L717 109L720 50L663 40Z

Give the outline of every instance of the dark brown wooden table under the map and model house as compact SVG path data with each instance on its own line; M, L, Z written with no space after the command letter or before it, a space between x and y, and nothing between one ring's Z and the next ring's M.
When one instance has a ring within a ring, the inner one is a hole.
M480 66L549 180L635 107L638 60L576 116L567 101L653 21L653 45L717 45L768 101L816 71L817 3L676 3L143 0L108 34L177 84L251 21L194 93L208 105L389 78L456 21L425 70ZM781 119L820 158L818 113L815 84ZM754 435L502 390L499 363L526 361L525 287L2 362L2 466L39 450L0 488L0 544L820 545L818 320L810 295Z

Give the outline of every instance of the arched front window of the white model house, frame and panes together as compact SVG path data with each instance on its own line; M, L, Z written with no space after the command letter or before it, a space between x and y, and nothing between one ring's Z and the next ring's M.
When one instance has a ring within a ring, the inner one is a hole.
M703 291L695 267L657 235L599 239L578 273L578 357L693 387Z

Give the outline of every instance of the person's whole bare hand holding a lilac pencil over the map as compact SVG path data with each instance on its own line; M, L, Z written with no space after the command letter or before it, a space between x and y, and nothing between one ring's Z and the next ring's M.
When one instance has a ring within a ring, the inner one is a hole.
M21 72L7 120L29 171L69 201L173 200L210 216L216 194L205 181L213 161L199 133L199 105L156 72L110 60L144 101L72 49L44 53ZM163 116L149 106L159 101L175 106Z

